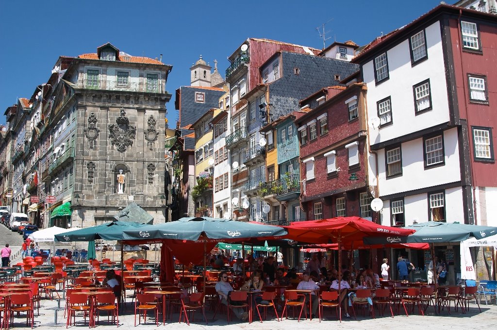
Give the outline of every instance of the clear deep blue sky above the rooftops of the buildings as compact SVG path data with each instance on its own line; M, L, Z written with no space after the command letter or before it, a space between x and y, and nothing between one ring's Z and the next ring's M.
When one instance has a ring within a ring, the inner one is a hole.
M408 24L439 0L249 1L0 1L0 123L19 97L45 83L61 55L94 53L111 42L134 56L159 57L173 66L166 89L174 127L174 90L190 83L190 66L203 56L224 77L227 57L248 37L322 48L316 28L327 23L334 40L364 45ZM452 3L452 1L447 1Z

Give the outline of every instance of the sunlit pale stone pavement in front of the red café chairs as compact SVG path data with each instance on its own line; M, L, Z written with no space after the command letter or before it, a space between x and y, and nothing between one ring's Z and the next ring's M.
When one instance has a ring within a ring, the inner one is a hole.
M62 295L62 293L61 293ZM65 301L61 300L61 306L64 307ZM36 316L35 312L35 328L37 329L53 329L53 328L63 328L66 327L66 319L64 319L64 311L58 312L58 323L54 324L55 321L55 311L54 307L57 306L57 301L53 300L44 300L41 301L40 307L40 316ZM216 316L215 320L212 320L213 313L207 312L207 319L209 324L206 325L203 322L201 314L198 312L195 313L195 322L190 324L188 327L186 324L181 323L178 324L178 313L172 314L172 321L167 320L166 325L163 326L162 323L159 327L156 327L155 322L152 319L147 320L147 324L140 325L137 328L134 326L134 314L133 307L131 303L128 303L128 311L124 313L124 315L119 315L119 327L117 329L125 330L125 329L188 329L188 330L197 330L197 329L244 329L244 330L288 330L295 328L312 328L313 330L329 330L331 327L333 329L360 329L360 330L370 330L370 329L381 329L381 330L399 330L401 328L409 328L409 330L426 330L426 329L464 329L464 330L481 330L481 329L491 329L495 326L495 322L497 320L497 306L495 305L495 301L492 301L492 305L485 305L483 303L482 313L478 312L478 308L474 303L470 305L471 310L467 314L462 314L461 311L455 312L451 311L452 314L449 315L446 311L442 311L440 316L436 316L432 313L431 310L426 316L420 316L414 314L406 317L405 315L395 316L395 318L391 318L386 314L385 316L377 315L376 319L370 319L369 317L363 317L362 313L358 313L357 320L354 319L344 319L342 323L338 323L334 319L334 311L328 311L327 315L332 317L330 320L323 320L321 323L318 319L313 319L312 321L303 320L300 323L297 323L297 320L283 320L282 322L277 322L276 320L265 321L264 323L253 322L248 324L248 322L241 322L235 319L232 323L228 324L226 322L226 314L221 314ZM417 312L417 310L416 310ZM378 314L378 313L377 313ZM149 313L150 315L150 313ZM367 313L366 313L367 315ZM268 313L268 319L272 316ZM162 315L159 315L159 318L162 321ZM116 329L114 325L108 325L106 322L103 322L107 318L102 315L100 317L100 325L97 329ZM72 326L72 329L85 329L87 324L83 325L83 318L77 317L77 325ZM142 320L143 321L143 320ZM14 329L29 329L26 326L25 317L15 317L14 318ZM494 326L492 326L494 325Z

